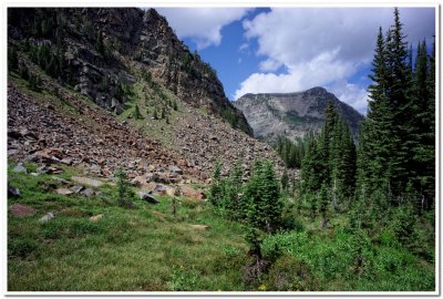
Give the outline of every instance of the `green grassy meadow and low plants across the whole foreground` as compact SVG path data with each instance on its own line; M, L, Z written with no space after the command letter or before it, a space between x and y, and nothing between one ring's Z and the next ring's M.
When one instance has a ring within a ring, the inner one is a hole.
M297 217L295 230L267 236L261 245L271 261L255 285L245 282L250 264L245 229L219 216L213 206L187 197L159 204L135 199L120 207L115 186L83 198L58 195L52 175L13 173L8 182L37 210L31 217L8 216L9 291L432 291L434 265L402 247L390 230L380 236L353 235L347 216L331 218L321 229L319 216ZM35 169L34 164L24 164ZM70 179L81 171L69 166L59 175ZM55 217L38 220L48 212ZM92 223L89 217L102 214ZM192 225L207 225L197 229ZM360 266L359 256L363 256ZM87 279L85 279L87 277Z

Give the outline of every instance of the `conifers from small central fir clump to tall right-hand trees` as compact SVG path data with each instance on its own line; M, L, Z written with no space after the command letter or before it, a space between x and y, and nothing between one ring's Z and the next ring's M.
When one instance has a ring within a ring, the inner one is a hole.
M317 136L298 143L279 137L276 150L287 167L300 165L291 195L313 219L322 218L322 227L334 215L344 215L352 234L389 228L405 248L432 260L435 50L429 52L425 41L416 51L408 49L402 27L395 9L393 25L384 34L379 30L368 115L357 142L329 101ZM284 228L287 172L278 182L270 162L258 161L246 184L241 177L237 165L223 178L216 164L212 203L248 227L268 233ZM256 233L247 239L257 240ZM257 241L249 243L257 250Z

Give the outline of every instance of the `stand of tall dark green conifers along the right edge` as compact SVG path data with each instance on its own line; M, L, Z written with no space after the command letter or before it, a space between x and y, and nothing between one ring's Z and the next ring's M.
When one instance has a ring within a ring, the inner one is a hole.
M357 146L329 103L301 163L299 195L323 223L347 213L353 231L390 227L423 254L434 236L435 45L431 53L424 40L408 49L402 27L395 9L394 24L379 29Z

